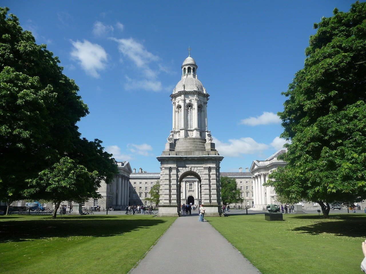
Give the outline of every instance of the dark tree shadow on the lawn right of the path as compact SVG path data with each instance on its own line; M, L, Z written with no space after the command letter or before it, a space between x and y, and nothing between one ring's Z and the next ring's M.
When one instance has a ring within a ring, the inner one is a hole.
M319 221L311 225L296 227L291 229L292 231L311 235L332 233L336 236L366 237L366 217L362 215L333 215L329 219L323 219L319 216L294 216L293 218L318 219Z

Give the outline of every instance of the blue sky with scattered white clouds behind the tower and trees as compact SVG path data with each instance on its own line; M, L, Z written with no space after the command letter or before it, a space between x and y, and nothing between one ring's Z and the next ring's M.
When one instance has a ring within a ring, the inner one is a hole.
M353 1L16 1L38 44L59 56L90 114L78 123L116 160L160 172L172 127L169 95L191 56L210 94L208 129L221 171L250 167L281 148L276 117L303 68L313 24Z

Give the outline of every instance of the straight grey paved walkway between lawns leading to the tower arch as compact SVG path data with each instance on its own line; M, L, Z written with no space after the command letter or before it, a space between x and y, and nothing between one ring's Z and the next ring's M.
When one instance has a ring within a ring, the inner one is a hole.
M197 215L177 218L130 273L258 274L260 272L209 222L198 222Z

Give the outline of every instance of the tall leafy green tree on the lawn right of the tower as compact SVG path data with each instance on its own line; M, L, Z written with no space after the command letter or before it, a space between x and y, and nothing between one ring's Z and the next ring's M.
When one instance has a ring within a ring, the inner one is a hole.
M329 203L366 198L366 3L314 24L304 68L279 113L288 164L270 175L280 195Z

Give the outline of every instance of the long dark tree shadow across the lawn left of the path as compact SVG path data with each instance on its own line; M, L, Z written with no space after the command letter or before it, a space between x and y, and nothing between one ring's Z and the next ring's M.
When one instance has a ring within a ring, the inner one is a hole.
M157 218L120 219L117 216L75 216L0 222L0 243L31 241L49 237L110 237L163 224Z

